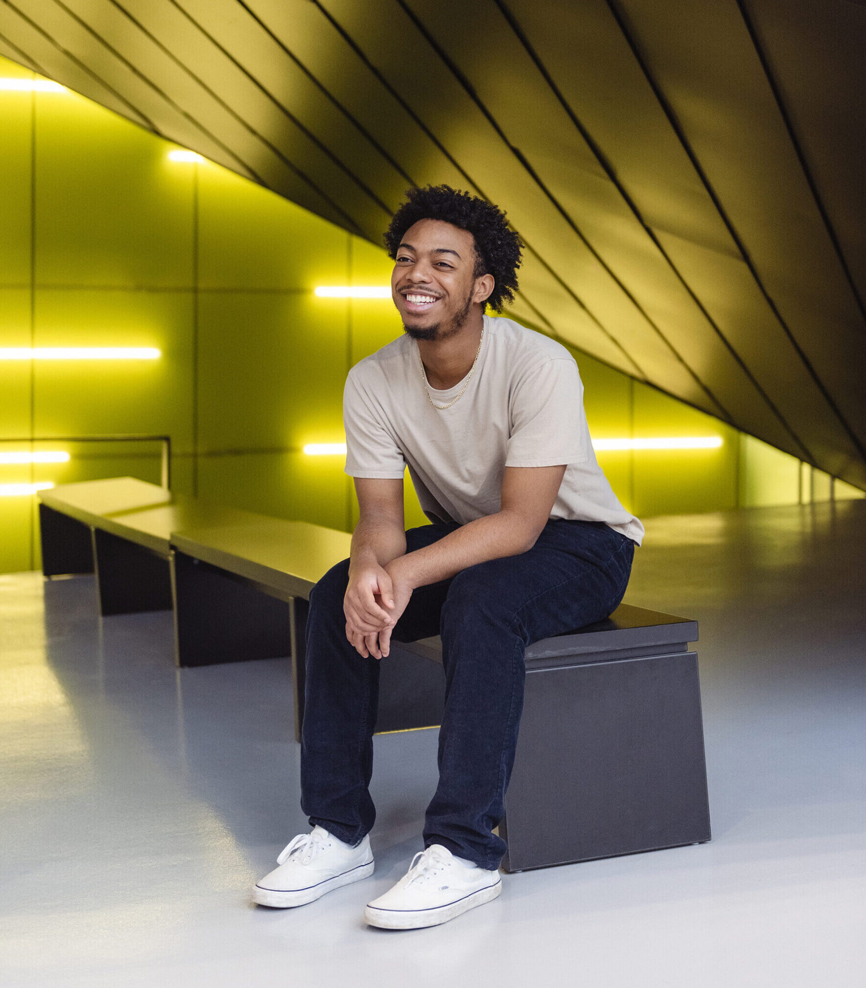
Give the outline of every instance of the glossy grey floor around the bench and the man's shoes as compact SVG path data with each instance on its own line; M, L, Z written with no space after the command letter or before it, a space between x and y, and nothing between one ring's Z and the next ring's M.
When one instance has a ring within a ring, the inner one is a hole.
M303 828L288 671L176 671L171 617L0 577L5 985L866 984L866 502L656 519L627 600L696 617L710 844L507 875L361 922L420 849L435 731L376 739L372 879L249 905Z

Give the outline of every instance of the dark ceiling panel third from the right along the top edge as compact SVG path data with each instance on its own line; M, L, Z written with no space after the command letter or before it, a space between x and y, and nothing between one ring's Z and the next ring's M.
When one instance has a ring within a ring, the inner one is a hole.
M823 457L837 452L836 416L754 284L606 2L511 0L505 9L676 271L779 410L793 435L777 445L801 456L804 447ZM762 373L768 349L774 364Z

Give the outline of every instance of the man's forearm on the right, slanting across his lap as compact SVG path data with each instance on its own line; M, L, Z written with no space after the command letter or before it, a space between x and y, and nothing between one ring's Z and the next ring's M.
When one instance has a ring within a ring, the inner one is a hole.
M401 576L412 587L425 587L488 559L527 552L537 537L537 529L524 516L500 511L469 522L432 545L404 555L398 565Z

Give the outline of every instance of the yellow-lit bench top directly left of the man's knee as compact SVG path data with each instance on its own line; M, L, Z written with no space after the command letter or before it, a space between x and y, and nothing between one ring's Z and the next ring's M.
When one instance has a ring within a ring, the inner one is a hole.
M307 598L332 566L349 557L352 535L275 518L207 530L179 528L171 541L203 562Z

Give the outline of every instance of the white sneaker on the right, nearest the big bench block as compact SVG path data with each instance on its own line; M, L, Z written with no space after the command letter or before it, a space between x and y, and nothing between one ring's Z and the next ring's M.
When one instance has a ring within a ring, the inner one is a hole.
M393 888L367 905L363 918L384 930L438 926L490 902L502 890L498 869L487 871L433 844L412 859Z

